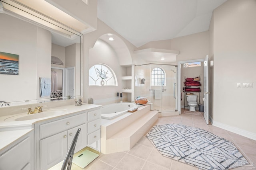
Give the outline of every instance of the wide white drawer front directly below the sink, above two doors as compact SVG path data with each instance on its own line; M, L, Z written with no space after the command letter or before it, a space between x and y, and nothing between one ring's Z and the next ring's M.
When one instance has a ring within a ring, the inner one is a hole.
M86 123L86 113L40 125L40 139Z

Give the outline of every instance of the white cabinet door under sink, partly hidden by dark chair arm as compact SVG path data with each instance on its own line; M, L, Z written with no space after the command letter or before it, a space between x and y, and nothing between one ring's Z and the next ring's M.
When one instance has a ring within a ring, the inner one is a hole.
M83 125L80 125L78 127L74 127L73 129L68 130L68 148L70 147L78 128L81 128L81 131L80 131L80 134L78 135L74 153L78 152L79 150L87 146L87 124L85 123Z

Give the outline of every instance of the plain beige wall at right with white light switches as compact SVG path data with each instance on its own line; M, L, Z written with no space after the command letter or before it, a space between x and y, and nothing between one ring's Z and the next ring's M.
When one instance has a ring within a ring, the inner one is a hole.
M228 0L214 10L214 124L254 133L256 88L237 88L256 76L256 1Z

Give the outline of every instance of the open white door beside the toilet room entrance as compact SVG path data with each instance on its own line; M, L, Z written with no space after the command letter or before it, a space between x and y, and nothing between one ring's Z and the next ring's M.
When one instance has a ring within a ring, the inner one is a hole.
M206 124L209 124L209 59L208 55L206 55L204 59L204 119L206 121Z

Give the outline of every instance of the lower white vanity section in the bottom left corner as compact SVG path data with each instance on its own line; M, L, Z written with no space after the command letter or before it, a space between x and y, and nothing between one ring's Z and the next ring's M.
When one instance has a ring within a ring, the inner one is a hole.
M0 170L34 170L34 130L0 152Z

